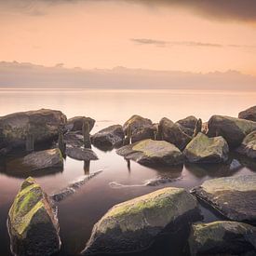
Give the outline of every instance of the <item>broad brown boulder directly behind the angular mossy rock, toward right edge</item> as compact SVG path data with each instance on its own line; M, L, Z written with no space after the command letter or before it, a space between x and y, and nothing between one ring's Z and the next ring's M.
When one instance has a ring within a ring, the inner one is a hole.
M251 131L256 130L256 122L213 115L209 119L208 129L209 137L222 136L230 147L237 147Z

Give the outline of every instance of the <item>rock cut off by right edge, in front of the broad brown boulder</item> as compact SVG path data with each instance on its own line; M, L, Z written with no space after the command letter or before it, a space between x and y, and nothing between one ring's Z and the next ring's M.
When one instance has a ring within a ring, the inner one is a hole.
M237 148L237 152L250 158L256 158L256 130L246 136L242 144Z

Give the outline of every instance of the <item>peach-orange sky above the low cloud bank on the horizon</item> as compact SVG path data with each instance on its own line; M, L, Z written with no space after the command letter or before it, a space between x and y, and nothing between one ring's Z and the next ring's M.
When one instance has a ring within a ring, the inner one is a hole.
M256 75L254 0L0 0L0 61Z

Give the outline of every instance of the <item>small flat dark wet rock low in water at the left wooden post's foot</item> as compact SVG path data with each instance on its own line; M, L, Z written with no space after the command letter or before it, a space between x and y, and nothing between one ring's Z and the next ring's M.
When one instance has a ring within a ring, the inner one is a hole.
M96 153L88 148L68 147L66 149L66 155L76 160L98 160Z

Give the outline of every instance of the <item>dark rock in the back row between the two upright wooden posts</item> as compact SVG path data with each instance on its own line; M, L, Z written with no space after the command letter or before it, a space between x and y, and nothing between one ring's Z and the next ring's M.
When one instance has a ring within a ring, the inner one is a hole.
M103 128L91 137L91 141L97 147L114 147L121 143L125 138L122 126L115 125Z

